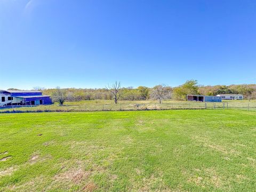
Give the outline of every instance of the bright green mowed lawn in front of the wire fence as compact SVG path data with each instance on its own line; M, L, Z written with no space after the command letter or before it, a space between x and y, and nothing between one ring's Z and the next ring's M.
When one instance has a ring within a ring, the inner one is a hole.
M0 191L255 191L256 111L0 115Z

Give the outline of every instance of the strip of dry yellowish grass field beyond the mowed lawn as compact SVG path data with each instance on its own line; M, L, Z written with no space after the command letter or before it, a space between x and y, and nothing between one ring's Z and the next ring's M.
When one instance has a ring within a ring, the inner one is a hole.
M248 106L249 105L249 106ZM236 101L224 100L223 102L187 102L164 100L159 104L154 100L119 101L114 104L113 100L91 100L66 102L65 105L26 106L26 107L0 107L0 113L29 113L29 112L73 112L73 111L117 111L117 110L163 110L163 109L243 109L256 110L255 100Z

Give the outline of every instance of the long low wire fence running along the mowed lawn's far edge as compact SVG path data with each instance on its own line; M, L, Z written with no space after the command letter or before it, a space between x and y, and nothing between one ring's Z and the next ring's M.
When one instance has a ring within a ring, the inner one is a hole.
M0 107L0 113L172 110L172 109L256 110L256 102L166 102L166 103L87 104L87 105L62 105L62 106L59 106L59 105L4 106L4 107Z

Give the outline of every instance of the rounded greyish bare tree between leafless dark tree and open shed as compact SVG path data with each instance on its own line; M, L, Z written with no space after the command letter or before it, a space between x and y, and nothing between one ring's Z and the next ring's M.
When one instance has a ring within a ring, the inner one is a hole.
M152 99L159 100L159 103L162 103L163 99L168 99L171 97L171 87L165 85L156 85L153 87L150 97Z

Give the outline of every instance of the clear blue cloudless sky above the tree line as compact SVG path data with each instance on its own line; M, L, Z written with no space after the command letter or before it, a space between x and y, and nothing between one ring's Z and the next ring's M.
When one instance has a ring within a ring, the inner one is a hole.
M0 89L256 83L256 1L0 0Z

